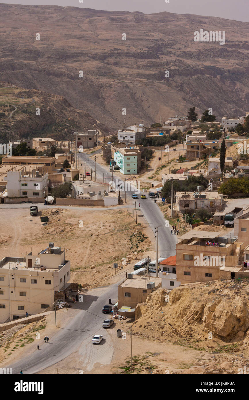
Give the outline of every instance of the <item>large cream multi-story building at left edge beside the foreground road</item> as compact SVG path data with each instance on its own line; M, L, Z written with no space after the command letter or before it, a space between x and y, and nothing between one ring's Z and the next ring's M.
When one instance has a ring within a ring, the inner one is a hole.
M51 307L55 292L66 293L69 279L70 261L54 243L24 258L4 257L0 261L0 323Z

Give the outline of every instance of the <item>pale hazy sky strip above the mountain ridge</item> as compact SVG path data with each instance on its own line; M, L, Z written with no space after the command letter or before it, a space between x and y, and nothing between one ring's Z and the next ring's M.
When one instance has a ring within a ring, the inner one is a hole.
M5 0L8 4L56 4L96 10L141 11L145 14L169 11L177 14L217 16L249 22L248 0Z

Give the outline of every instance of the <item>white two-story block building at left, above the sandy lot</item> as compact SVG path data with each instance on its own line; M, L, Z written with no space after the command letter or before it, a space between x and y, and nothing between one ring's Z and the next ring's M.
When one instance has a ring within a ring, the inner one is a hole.
M23 171L7 173L8 197L46 197L48 194L48 173L41 174L32 170L30 174Z

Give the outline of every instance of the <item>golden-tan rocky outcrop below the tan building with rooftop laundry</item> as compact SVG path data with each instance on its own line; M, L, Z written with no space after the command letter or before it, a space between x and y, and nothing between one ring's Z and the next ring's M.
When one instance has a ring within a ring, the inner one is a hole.
M249 282L194 283L175 288L165 301L160 289L139 304L133 330L145 337L218 352L247 352Z

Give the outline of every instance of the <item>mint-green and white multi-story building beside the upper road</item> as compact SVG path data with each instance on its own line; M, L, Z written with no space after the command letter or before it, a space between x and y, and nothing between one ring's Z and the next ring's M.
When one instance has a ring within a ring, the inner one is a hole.
M138 146L117 148L112 146L114 161L120 167L120 172L124 175L137 174L141 168L141 151Z

